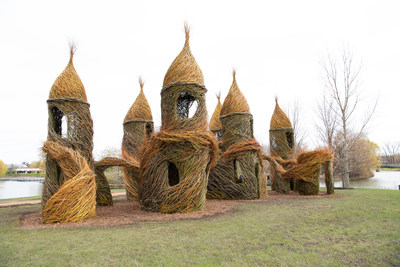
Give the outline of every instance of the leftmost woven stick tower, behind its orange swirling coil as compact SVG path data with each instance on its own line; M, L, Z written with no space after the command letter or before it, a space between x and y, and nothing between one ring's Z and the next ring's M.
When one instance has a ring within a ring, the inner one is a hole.
M70 60L64 71L55 80L49 94L48 137L47 140L79 152L94 170L93 121L90 116L90 105L87 103L85 88L74 65L75 46L70 46ZM59 163L51 158L46 159L46 177L42 194L42 207L58 191L65 177ZM96 177L99 205L112 204L110 187L106 179Z

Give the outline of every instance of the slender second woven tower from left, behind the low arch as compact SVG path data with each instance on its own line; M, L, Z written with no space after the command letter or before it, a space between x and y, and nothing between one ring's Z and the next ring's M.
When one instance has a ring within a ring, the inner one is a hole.
M139 77L140 93L124 119L122 157L127 161L139 161L141 149L154 132L150 105L143 92L144 82ZM123 167L128 200L138 199L139 172Z

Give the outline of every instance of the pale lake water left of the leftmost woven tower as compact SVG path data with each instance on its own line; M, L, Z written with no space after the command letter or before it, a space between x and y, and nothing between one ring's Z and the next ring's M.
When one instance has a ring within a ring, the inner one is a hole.
M41 182L0 181L0 199L42 195Z

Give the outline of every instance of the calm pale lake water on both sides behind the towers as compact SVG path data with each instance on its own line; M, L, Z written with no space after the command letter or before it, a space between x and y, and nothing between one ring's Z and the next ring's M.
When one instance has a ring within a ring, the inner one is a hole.
M23 177L19 177L23 178ZM29 177L27 177L29 178ZM377 188L398 190L400 185L400 172L382 171L376 172L375 177L359 181L350 181L354 188ZM336 181L335 187L341 187L342 182ZM321 183L325 187L325 183ZM40 196L43 184L39 181L0 181L0 199Z

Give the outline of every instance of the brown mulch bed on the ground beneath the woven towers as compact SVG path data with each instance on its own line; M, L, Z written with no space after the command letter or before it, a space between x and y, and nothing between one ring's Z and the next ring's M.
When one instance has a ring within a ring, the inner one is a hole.
M319 196L300 196L296 192L290 192L289 195L279 194L268 191L268 197L258 200L216 200L207 199L204 209L191 213L162 214L157 212L147 212L140 209L138 201L117 200L114 206L96 207L96 216L79 223L42 223L41 213L35 212L27 214L21 218L21 229L44 229L44 228L72 228L72 227L111 227L122 225L133 225L139 222L154 221L172 221L201 219L217 216L227 212L234 211L239 203L245 202L268 202L279 199L314 199L314 198L336 198L340 195L327 195L326 192L320 192Z

